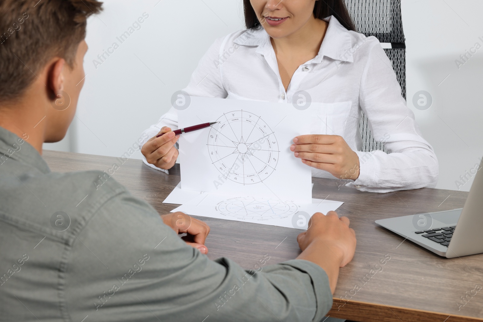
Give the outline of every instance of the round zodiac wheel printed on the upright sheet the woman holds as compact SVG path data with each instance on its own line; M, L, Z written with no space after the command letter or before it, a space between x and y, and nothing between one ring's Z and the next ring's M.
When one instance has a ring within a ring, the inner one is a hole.
M225 179L241 184L263 182L278 163L278 141L268 124L254 113L223 114L208 134L208 153Z

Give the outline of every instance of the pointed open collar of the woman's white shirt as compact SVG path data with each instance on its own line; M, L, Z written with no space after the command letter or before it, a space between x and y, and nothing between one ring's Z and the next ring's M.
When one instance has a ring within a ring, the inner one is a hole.
M350 31L342 26L334 16L329 16L324 20L329 23L326 35L319 53L311 62L320 64L324 56L335 60L354 62L352 54L350 54L352 48ZM242 46L258 46L256 52L259 54L264 54L271 48L270 36L261 26L247 29L233 42Z

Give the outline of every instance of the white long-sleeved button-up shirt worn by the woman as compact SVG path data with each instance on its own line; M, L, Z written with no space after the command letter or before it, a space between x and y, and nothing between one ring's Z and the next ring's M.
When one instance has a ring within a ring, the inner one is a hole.
M434 187L438 160L421 137L380 42L347 30L333 16L325 20L329 25L318 55L300 65L287 91L270 36L263 28L243 29L217 39L184 91L191 96L280 103L292 103L292 98L297 101L302 98L299 91L304 91L312 102L325 103L325 111L317 119L307 120L307 134L340 135L359 157L357 180L341 181L340 185L371 192ZM369 119L373 137L384 143L389 154L360 151L361 110ZM151 138L162 126L175 129L177 124L176 110L171 108L144 133ZM144 162L148 164L145 158ZM327 171L313 168L312 173L334 179Z

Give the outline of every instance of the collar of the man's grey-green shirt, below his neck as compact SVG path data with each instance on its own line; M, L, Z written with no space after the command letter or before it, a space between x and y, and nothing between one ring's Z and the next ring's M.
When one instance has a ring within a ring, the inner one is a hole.
M5 157L27 164L42 173L50 172L45 160L30 143L0 126L0 167L3 162L8 162Z

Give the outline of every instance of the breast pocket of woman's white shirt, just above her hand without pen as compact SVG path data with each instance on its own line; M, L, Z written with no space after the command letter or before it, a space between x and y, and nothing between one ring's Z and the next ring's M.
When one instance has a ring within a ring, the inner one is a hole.
M340 135L344 137L352 101L337 103L312 103L313 121L311 134Z

